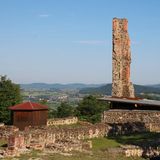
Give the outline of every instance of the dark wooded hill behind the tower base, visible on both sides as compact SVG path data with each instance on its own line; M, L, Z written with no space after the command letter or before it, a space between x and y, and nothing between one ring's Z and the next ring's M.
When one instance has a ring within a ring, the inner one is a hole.
M134 85L136 95L140 93L157 93L160 94L160 88L156 88L153 86L143 86L143 85ZM107 84L100 87L94 88L84 88L81 89L79 92L81 94L105 94L111 95L112 85Z

